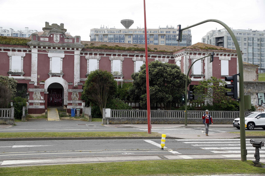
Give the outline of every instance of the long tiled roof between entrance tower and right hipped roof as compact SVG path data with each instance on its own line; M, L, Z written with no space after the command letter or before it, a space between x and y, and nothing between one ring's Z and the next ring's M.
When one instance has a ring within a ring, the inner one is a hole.
M131 43L110 43L110 42L95 42L95 41L81 41L81 43L85 46L100 46L100 45L107 45L107 46L119 46L119 47L138 47L138 48L145 48L144 44L131 44ZM151 50L163 50L166 52L174 52L183 49L183 46L167 46L167 45L148 45L148 48Z

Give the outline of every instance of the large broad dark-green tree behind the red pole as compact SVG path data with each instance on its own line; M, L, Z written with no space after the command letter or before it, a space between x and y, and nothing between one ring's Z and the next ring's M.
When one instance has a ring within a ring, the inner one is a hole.
M173 104L181 102L185 92L186 75L181 72L179 66L159 61L150 62L148 68L150 104L158 102L160 109L171 110ZM147 107L145 70L144 64L139 72L132 74L133 87L129 90L131 100L140 101L143 108ZM191 79L188 79L188 84L190 83Z

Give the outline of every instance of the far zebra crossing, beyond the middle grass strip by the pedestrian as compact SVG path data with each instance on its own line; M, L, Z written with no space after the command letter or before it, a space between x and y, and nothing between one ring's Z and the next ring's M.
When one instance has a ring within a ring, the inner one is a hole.
M147 128L137 128L142 131L148 131ZM202 131L205 131L205 128L152 128L152 132L157 132L161 134L202 134ZM215 132L209 131L209 134ZM204 133L205 134L205 133Z

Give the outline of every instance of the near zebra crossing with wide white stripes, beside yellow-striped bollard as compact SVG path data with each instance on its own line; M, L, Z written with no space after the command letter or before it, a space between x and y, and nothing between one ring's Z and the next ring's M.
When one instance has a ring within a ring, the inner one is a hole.
M175 139L176 141L183 142L195 147L199 147L208 152L216 154L230 154L224 155L226 157L233 157L231 154L240 154L240 139ZM264 141L264 139L259 139ZM246 139L246 149L248 154L254 154L255 148L249 143L249 139ZM260 157L265 159L265 147L259 150Z

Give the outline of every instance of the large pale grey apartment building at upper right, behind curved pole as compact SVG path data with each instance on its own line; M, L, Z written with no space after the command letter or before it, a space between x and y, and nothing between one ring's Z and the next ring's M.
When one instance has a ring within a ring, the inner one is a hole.
M243 53L242 59L259 66L259 73L265 72L265 30L243 30L231 28L236 35L239 47ZM231 35L226 29L211 30L201 39L202 43L221 46L235 50Z

